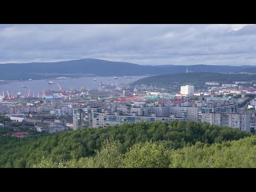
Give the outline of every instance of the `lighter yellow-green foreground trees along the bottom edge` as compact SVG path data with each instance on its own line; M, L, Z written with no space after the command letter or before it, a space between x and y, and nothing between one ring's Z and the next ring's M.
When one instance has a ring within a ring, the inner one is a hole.
M196 142L182 149L166 149L162 142L146 141L135 143L121 154L122 144L106 140L95 157L72 159L54 163L51 159L42 159L35 168L238 168L256 167L256 136L238 141L223 141L207 145Z

